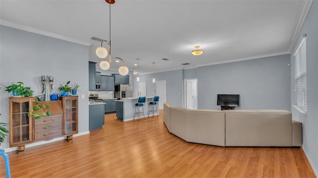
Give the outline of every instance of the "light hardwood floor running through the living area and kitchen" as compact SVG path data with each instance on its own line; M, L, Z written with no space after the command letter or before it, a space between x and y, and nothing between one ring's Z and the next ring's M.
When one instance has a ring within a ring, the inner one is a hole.
M103 129L9 152L12 178L315 178L301 148L219 147L188 143L159 118L121 122L105 115ZM0 158L0 178L5 177Z

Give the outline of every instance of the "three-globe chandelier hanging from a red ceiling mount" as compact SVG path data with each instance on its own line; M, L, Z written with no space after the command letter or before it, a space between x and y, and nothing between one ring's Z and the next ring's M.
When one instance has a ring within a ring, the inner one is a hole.
M123 65L119 67L118 69L118 72L120 75L127 75L128 72L129 72L129 69L127 66L125 66L125 62L123 59L119 58L119 57L113 57L111 58L111 47L110 47L110 4L113 4L115 3L115 0L105 0L107 3L109 3L109 42L107 42L106 40L102 40L101 41L101 46L100 47L97 47L96 49L96 55L99 57L99 58L104 58L103 61L101 61L99 63L99 67L103 70L107 70L111 67L111 61L113 59L119 59L123 62ZM109 47L109 51L107 51L106 48L103 47L103 42L106 42L108 47ZM107 54L109 53L109 62L106 61L106 56Z

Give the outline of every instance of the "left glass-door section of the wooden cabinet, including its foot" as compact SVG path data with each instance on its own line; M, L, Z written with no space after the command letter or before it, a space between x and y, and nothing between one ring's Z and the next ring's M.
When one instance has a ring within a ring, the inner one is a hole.
M18 154L23 154L25 144L33 141L32 119L28 111L32 108L32 97L9 98L9 146L18 146Z

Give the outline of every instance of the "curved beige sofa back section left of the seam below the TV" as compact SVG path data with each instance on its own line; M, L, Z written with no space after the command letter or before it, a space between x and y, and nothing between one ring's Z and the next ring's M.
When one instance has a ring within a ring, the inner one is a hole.
M224 112L171 107L171 133L188 142L225 146Z

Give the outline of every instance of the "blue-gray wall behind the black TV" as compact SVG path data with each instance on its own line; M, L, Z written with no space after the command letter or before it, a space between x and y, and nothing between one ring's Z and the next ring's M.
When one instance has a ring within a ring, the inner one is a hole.
M219 109L217 94L239 94L238 109L290 111L290 55L199 67L198 108Z

